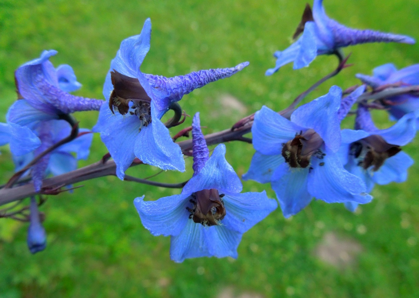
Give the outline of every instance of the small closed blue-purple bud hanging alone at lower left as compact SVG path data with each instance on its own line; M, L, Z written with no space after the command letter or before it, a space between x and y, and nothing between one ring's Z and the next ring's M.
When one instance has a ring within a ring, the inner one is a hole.
M29 228L28 228L28 249L32 254L38 251L43 251L47 246L47 234L39 219L38 205L34 197L31 197L29 215Z

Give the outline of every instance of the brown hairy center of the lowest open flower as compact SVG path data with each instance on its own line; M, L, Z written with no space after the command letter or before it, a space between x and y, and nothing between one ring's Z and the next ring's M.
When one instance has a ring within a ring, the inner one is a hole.
M189 218L202 225L219 225L225 216L224 194L219 194L217 189L203 189L191 194L192 208L186 207L191 214Z

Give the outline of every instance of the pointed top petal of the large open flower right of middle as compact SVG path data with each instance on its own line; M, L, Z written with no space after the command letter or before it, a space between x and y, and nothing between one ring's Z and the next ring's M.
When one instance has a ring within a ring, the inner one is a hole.
M296 109L291 114L291 121L302 127L313 128L326 146L336 152L341 142L340 121L337 117L341 98L341 88L332 86L326 95Z

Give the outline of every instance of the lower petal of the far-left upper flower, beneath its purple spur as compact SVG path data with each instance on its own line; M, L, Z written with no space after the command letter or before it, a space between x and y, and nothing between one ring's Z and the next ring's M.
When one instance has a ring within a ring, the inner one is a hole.
M15 101L9 108L6 119L8 122L26 126L34 130L39 122L51 119L58 119L57 114L47 114L44 111L35 109L25 99Z

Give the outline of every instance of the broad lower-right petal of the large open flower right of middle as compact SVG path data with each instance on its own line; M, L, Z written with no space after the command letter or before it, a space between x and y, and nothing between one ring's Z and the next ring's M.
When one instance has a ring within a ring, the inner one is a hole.
M327 203L353 201L368 203L372 197L366 193L364 182L346 171L338 155L327 150L319 159L312 157L313 170L308 175L308 192Z

